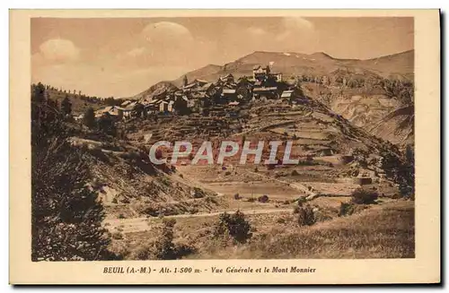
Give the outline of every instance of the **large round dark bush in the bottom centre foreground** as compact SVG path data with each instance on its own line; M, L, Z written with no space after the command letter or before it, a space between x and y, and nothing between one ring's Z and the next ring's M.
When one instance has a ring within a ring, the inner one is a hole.
M214 237L233 237L234 242L245 243L252 237L251 224L245 219L242 211L233 214L224 212L220 214L218 222L214 227Z

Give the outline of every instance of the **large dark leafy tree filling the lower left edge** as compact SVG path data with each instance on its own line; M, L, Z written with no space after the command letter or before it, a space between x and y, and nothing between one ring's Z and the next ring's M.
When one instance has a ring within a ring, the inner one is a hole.
M88 187L86 154L66 142L70 133L51 100L41 100L41 87L32 94L31 259L110 259L102 205Z

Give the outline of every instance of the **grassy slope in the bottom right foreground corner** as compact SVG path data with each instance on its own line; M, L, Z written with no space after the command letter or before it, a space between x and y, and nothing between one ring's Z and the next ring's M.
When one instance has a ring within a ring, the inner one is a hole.
M195 258L412 258L415 256L414 202L376 206L360 214L279 233L250 244L226 247ZM292 223L292 226L294 224Z

